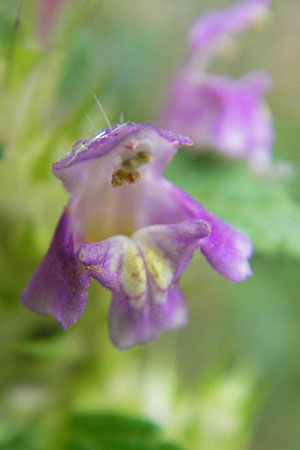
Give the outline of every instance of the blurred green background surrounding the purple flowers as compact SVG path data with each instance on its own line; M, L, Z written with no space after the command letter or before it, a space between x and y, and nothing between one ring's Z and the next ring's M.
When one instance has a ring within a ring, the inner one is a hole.
M18 302L67 201L51 164L106 127L94 94L112 123L156 123L189 26L232 2L56 0L52 23L42 3L0 0L0 448L299 449L299 1L274 0L211 66L271 73L274 157L291 176L186 150L166 173L253 239L254 276L233 284L195 255L188 326L125 352L96 283L68 331Z

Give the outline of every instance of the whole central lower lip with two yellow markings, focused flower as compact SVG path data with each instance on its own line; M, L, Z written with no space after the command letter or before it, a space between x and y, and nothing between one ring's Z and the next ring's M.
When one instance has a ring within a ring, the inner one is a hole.
M119 348L185 324L185 304L174 283L210 231L207 222L194 219L145 227L132 239L114 236L80 248L78 258L89 274L113 291L110 327Z

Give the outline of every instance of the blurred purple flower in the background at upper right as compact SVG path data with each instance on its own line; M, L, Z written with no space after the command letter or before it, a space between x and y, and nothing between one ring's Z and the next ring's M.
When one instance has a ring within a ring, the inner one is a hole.
M258 171L271 161L273 128L264 103L271 78L253 72L235 80L208 74L206 66L224 40L255 24L269 3L246 0L195 23L189 33L191 56L170 87L161 121L192 136L198 147L246 159Z

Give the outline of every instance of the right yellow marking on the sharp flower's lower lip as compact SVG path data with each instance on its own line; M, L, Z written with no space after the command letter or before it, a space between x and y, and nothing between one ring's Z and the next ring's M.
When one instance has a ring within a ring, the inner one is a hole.
M143 246L143 255L147 269L161 289L166 289L172 281L174 268L171 262L161 252L154 248Z

